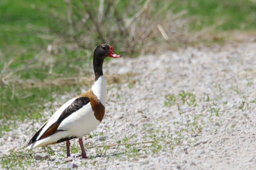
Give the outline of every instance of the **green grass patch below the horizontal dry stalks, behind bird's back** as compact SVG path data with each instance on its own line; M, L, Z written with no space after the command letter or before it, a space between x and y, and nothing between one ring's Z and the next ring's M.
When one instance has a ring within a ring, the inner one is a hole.
M3 94L0 98L2 107L0 108L0 119L10 119L16 115L23 120L27 116L30 118L40 118L40 111L45 109L44 102L47 100L52 107L52 103L56 98L52 93L58 93L58 95L64 94L65 91L70 90L70 86L62 86L61 88L56 85L39 88L21 88L15 89L15 95L12 99L12 91L8 87L2 87L0 92ZM73 87L76 89L76 86ZM41 103L41 104L40 104Z

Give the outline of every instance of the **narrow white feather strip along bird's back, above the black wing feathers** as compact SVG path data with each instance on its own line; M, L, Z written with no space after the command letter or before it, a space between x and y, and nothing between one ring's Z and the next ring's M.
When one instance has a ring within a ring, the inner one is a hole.
M76 100L76 98L73 98L71 100L68 100L64 105L62 105L53 115L52 117L47 121L47 124L44 126L44 128L41 130L41 132L39 133L38 137L36 138L36 140L38 140L43 134L44 132L53 124L55 123L58 118L60 117L61 113L74 101Z

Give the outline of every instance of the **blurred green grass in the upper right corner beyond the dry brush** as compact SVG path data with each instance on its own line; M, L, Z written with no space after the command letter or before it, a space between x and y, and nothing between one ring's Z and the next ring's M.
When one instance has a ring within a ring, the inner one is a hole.
M256 28L256 3L250 0L180 0L173 1L175 11L187 10L188 17L198 16L193 29L220 24L217 30L248 30Z

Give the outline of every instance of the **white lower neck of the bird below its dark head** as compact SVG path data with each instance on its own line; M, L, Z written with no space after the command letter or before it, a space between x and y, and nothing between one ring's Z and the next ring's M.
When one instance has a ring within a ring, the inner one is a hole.
M92 92L98 97L101 104L105 107L107 100L107 83L105 77L102 75L95 81L92 86Z

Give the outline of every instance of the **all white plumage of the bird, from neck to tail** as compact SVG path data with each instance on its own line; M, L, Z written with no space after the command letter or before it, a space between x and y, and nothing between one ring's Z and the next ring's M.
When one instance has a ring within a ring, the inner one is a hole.
M92 86L92 92L95 94L95 96L97 96L101 104L105 107L107 100L107 84L106 79L103 75L100 76L97 81L95 81L94 85ZM100 121L95 118L92 106L89 102L88 104L84 105L79 110L65 118L58 127L58 130L60 131L54 133L49 137L45 137L39 140L40 137L46 132L46 130L58 120L62 112L74 100L76 100L76 98L67 101L52 115L52 117L47 122L42 125L42 127L44 126L44 128L36 137L37 141L30 144L26 148L26 150L52 144L66 137L82 138L84 135L89 134L93 129L96 129L96 127L100 124Z

